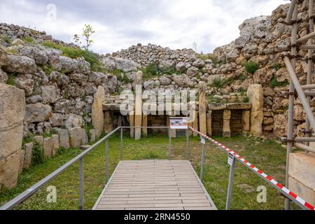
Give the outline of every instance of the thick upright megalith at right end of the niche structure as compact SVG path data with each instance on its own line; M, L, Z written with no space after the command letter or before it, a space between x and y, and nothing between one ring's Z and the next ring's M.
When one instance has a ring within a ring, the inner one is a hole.
M262 123L264 121L264 92L262 85L250 85L247 96L251 103L251 134L254 137L262 136Z

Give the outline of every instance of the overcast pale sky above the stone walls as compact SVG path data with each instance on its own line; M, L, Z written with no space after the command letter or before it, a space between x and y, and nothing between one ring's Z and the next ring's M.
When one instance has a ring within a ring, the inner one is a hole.
M1 0L0 22L46 31L66 42L85 24L96 31L92 50L116 52L155 43L212 52L239 36L247 18L271 15L284 0Z

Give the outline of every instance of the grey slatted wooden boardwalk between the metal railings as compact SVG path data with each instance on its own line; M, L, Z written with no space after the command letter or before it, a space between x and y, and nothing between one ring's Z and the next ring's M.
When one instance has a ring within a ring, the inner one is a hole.
M188 161L121 161L95 210L216 210Z

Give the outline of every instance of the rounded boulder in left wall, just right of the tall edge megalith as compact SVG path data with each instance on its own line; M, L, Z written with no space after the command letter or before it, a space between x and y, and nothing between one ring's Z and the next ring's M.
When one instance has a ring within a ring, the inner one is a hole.
M47 104L27 104L25 121L27 123L39 123L48 120L52 116L52 108Z

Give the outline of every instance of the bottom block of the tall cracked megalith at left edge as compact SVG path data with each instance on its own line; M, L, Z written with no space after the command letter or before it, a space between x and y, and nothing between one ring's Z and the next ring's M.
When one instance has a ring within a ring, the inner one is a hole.
M6 159L0 159L0 190L3 187L14 188L18 183L20 158L21 151L17 151Z

